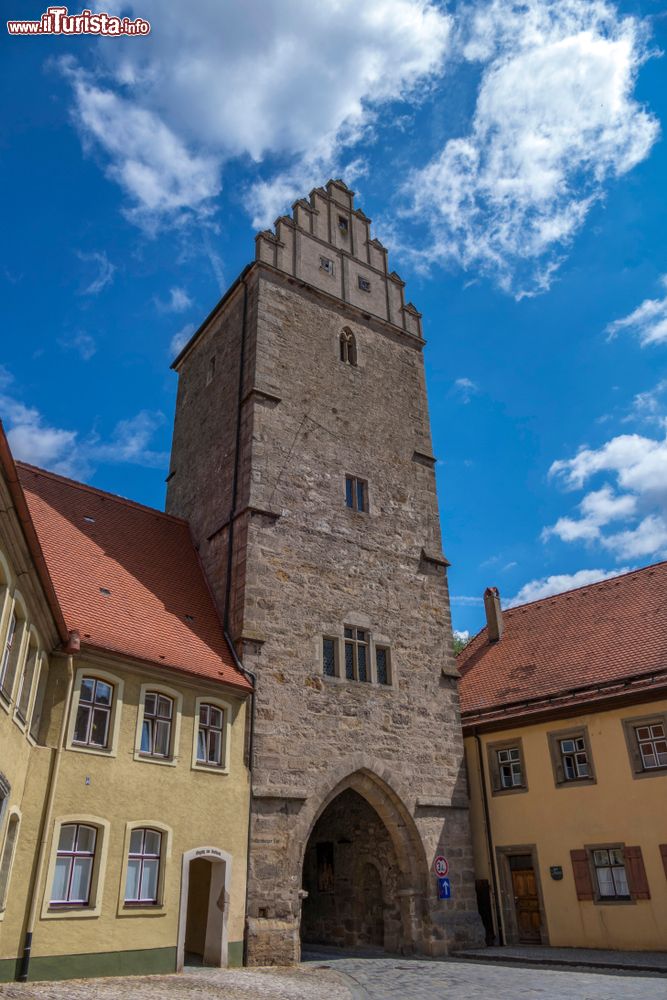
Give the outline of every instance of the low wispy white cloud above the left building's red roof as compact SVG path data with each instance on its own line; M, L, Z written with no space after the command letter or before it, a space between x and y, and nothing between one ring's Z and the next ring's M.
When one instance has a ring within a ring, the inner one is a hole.
M82 437L78 431L53 427L36 407L25 406L12 391L13 379L0 366L0 414L7 423L7 439L14 457L50 469L59 475L89 478L100 463L131 463L165 469L167 452L150 447L164 424L162 413L142 410L116 424L108 441L98 434Z

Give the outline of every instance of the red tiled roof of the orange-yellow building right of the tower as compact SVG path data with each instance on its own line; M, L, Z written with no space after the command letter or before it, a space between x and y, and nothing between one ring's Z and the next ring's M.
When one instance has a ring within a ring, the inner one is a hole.
M499 642L484 628L457 657L462 713L522 714L530 699L667 671L667 562L510 608L503 622Z

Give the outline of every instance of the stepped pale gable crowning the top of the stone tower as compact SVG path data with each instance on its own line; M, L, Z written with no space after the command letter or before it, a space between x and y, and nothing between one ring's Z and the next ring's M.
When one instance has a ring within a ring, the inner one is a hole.
M389 271L387 248L371 237L371 220L343 181L299 198L255 242L256 260L421 338L421 313L406 303L405 282Z

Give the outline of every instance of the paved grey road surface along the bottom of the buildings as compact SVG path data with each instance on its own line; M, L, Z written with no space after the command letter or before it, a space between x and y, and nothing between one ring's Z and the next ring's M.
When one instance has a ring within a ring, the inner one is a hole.
M489 962L314 957L297 969L7 983L1 1000L667 1000L664 976Z

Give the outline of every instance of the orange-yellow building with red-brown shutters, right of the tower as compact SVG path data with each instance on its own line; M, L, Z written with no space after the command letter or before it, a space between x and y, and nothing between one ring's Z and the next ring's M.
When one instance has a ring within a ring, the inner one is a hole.
M484 603L458 666L487 941L664 950L667 563Z

